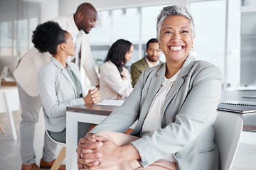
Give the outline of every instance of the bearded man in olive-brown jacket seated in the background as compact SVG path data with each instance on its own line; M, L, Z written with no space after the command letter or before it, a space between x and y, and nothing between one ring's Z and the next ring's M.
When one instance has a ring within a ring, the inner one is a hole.
M147 55L143 57L142 60L134 62L134 64L131 66L133 87L137 83L144 69L163 63L159 61L161 51L159 50L159 43L156 38L151 38L148 42L146 42L146 53Z

